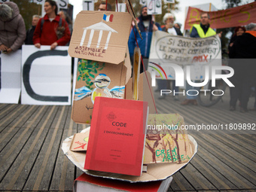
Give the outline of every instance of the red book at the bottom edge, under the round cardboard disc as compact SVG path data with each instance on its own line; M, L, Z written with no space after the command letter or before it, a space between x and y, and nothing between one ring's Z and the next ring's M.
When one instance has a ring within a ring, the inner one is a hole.
M84 173L75 179L74 185L73 185L73 191L74 192L82 192L82 191L164 192L168 190L171 182L172 182L172 177L166 178L163 181L130 183L127 181L94 177Z

